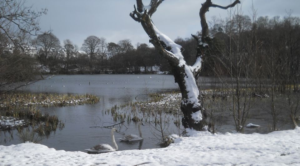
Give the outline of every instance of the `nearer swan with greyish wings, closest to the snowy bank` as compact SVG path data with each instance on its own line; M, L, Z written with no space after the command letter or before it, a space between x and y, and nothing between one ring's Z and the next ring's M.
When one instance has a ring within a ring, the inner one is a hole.
M113 128L110 131L110 134L112 136L113 146L110 146L109 144L98 144L91 149L84 149L84 150L87 150L88 152L92 152L92 153L106 153L106 152L113 152L118 150L118 145L115 141L115 136L113 135L114 131L117 131L117 129Z

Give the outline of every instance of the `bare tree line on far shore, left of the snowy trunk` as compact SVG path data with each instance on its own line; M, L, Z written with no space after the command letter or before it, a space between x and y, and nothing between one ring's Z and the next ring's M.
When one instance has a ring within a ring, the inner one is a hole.
M61 46L54 34L43 34L32 43L37 48L37 60L50 74L151 73L153 66L168 70L168 63L154 48L145 43L134 47L129 39L114 43L89 36L78 48L69 39Z

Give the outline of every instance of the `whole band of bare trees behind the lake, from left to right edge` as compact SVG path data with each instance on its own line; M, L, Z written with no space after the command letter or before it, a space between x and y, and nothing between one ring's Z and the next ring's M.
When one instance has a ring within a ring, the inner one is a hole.
M16 28L18 26L11 21L15 19L14 22L21 25L18 15L13 17L16 13L1 8L1 85L26 82L45 71L50 74L148 73L153 71L152 66L170 71L168 61L148 44L133 46L129 39L114 43L96 36L87 37L81 47L74 45L70 39L61 44L53 33L36 33L40 30L37 18L47 10L34 12L14 0L1 3L2 6L11 3L10 6L20 12L23 22L28 22L24 28ZM6 18L5 15L9 14L12 17ZM276 90L284 91L287 85L298 89L299 17L251 18L236 15L227 19L212 17L211 20L209 32L214 36L214 44L210 48L211 55L206 56L204 61L202 76L251 76L262 91L271 80ZM37 36L32 40L31 35ZM183 46L183 56L187 64L192 65L197 42L192 37L178 37L175 42Z

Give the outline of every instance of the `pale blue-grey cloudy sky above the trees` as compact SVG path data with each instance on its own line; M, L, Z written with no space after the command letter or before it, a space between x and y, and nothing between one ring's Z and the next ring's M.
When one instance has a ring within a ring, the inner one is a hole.
M244 15L252 14L252 0L241 0ZM144 0L148 4L150 0ZM201 30L199 10L205 0L165 0L154 13L152 20L160 31L171 39L190 37ZM230 0L212 0L213 3L227 6ZM233 2L233 0L232 0ZM136 0L27 0L27 6L40 10L47 8L47 15L40 17L42 31L53 30L61 42L70 39L79 47L90 35L106 38L107 42L117 43L130 39L136 43L149 43L149 38L140 23L135 22L129 13ZM300 17L300 0L253 0L258 16L292 15ZM228 17L228 11L210 8L207 21L212 16Z

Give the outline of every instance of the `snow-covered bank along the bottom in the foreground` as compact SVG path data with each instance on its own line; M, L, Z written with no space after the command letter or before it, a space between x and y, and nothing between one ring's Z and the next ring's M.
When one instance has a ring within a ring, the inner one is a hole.
M179 137L167 148L104 154L33 143L0 145L0 165L300 165L299 127L269 134L187 132L189 137Z

